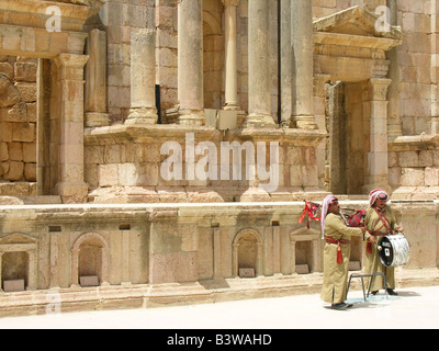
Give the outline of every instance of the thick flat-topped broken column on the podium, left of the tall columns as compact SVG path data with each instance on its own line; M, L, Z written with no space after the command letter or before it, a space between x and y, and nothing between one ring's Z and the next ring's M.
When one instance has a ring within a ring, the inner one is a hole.
M131 34L131 110L125 124L156 124L156 33Z

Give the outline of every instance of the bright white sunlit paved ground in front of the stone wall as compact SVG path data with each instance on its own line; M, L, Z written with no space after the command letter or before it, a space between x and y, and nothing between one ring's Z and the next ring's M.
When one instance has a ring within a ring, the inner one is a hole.
M369 329L439 328L439 286L383 292L367 303L350 292L354 306L336 312L319 295L228 302L213 305L70 313L0 318L0 329Z

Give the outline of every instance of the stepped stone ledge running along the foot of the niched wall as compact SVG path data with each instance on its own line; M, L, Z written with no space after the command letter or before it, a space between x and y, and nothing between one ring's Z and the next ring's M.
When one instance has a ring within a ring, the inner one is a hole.
M350 272L354 273L354 272ZM357 272L358 273L358 272ZM436 286L438 269L396 270L397 287ZM323 274L260 276L256 279L227 279L194 283L119 285L99 287L53 288L0 294L0 317L60 313L153 308L194 304L213 304L291 295L318 294ZM361 290L352 281L351 291ZM59 295L58 295L59 294Z

